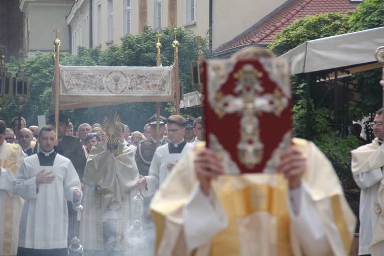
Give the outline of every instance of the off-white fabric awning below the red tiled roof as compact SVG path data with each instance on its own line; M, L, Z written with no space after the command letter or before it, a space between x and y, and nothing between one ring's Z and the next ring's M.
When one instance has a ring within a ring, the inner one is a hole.
M360 66L351 73L381 67L374 57L384 45L384 27L307 41L280 57L291 63L292 74ZM363 66L364 67L361 67Z

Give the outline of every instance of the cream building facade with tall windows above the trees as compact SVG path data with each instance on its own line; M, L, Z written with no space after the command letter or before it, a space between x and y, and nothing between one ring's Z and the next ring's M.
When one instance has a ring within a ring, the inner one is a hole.
M111 43L119 45L126 34L142 33L146 24L153 29L184 27L203 38L208 38L211 28L211 43L215 49L284 2L78 0L73 4L66 22L70 27L71 51L74 54L77 46L104 50Z

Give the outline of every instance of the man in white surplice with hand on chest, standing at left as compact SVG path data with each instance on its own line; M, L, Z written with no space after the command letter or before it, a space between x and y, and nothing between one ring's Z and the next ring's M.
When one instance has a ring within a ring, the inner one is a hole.
M15 176L15 193L24 200L18 256L67 255L67 200L81 200L71 161L53 150L53 126L40 130L40 152L25 158Z

